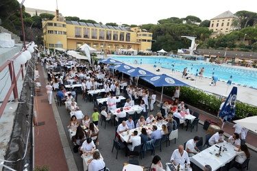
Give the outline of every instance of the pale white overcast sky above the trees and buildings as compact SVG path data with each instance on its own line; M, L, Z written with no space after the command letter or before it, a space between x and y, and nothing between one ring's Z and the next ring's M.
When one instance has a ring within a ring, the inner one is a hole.
M185 18L189 15L197 16L201 21L210 20L228 10L232 13L241 10L257 12L254 4L254 0L241 3L234 0L58 0L58 9L62 16L78 16L80 19L90 19L97 23L143 25L157 24L160 19ZM25 0L23 5L41 10L56 10L56 0Z

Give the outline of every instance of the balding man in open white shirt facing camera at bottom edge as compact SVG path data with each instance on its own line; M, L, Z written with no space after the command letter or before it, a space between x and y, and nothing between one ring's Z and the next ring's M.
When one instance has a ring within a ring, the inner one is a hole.
M184 147L182 145L178 146L178 149L174 150L171 155L171 162L174 166L184 166L186 161L186 164L190 164L190 160L188 157L187 152L184 150Z

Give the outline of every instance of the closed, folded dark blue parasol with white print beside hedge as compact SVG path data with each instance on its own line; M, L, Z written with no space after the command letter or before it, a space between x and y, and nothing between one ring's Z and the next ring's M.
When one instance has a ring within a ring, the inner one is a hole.
M221 111L219 111L219 117L225 116L224 121L234 118L234 113L236 111L236 96L237 96L237 87L233 87L228 98L225 100Z

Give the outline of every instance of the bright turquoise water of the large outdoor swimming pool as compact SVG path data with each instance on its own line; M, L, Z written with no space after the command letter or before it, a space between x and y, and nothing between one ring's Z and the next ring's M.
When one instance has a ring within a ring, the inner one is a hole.
M200 71L200 68L204 67L204 77L212 77L214 72L215 76L221 81L227 82L230 76L233 76L232 83L240 84L241 86L249 86L257 88L257 70L244 70L242 68L219 66L204 61L191 61L182 60L180 58L172 57L139 57L139 56L114 56L115 60L122 62L135 63L137 60L138 64L156 64L160 68L173 68L171 65L174 64L174 70L183 71L184 68L188 68L188 73L194 74Z

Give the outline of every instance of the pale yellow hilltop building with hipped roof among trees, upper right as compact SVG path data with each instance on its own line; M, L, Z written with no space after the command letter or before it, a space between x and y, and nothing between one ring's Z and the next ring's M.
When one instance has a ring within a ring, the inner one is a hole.
M232 12L226 11L215 18L210 19L209 29L213 30L213 35L211 37L217 36L219 34L229 34L231 31L238 29L232 25L234 20L238 20Z

